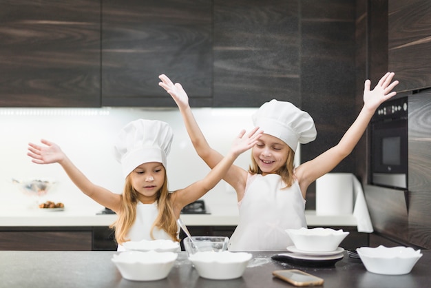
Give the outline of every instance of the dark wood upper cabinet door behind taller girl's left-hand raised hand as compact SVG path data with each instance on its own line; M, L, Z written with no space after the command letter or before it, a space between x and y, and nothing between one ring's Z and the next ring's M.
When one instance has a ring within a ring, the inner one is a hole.
M211 106L212 20L210 0L103 0L103 105L175 106L165 73Z

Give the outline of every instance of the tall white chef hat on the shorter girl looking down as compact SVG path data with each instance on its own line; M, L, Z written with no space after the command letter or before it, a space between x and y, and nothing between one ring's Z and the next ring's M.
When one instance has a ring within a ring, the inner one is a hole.
M160 162L166 168L173 138L171 127L162 121L138 119L125 125L114 147L124 176L148 162Z

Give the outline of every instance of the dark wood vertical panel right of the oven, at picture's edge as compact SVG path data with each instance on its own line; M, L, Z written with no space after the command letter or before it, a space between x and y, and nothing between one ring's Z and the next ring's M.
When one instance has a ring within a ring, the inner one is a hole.
M431 90L409 96L408 105L408 240L431 248Z

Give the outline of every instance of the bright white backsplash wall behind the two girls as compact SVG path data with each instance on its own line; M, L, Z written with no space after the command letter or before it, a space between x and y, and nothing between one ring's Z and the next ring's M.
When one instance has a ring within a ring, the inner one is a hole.
M229 150L233 138L242 128L253 127L255 108L197 108L193 112L209 143L222 154ZM0 108L0 207L20 209L30 203L28 196L12 184L12 178L28 180L49 178L56 185L40 200L54 200L69 207L101 206L80 192L57 165L36 165L27 156L28 142L41 138L57 143L74 164L94 183L113 192L123 190L120 164L113 154L113 143L120 129L135 119L166 121L174 130L174 141L168 156L169 189L174 190L202 178L209 168L198 157L177 109L159 108ZM250 152L235 162L244 168L250 163ZM223 181L204 196L209 207L236 205L236 194ZM212 205L211 205L212 204Z

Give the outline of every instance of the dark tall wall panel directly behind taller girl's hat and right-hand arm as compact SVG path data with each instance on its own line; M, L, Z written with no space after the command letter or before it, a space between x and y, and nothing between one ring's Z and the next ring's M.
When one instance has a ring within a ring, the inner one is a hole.
M302 145L308 161L336 145L356 117L355 1L300 1L301 108L313 117L317 138ZM354 172L355 154L333 172ZM315 183L306 209L315 208Z

